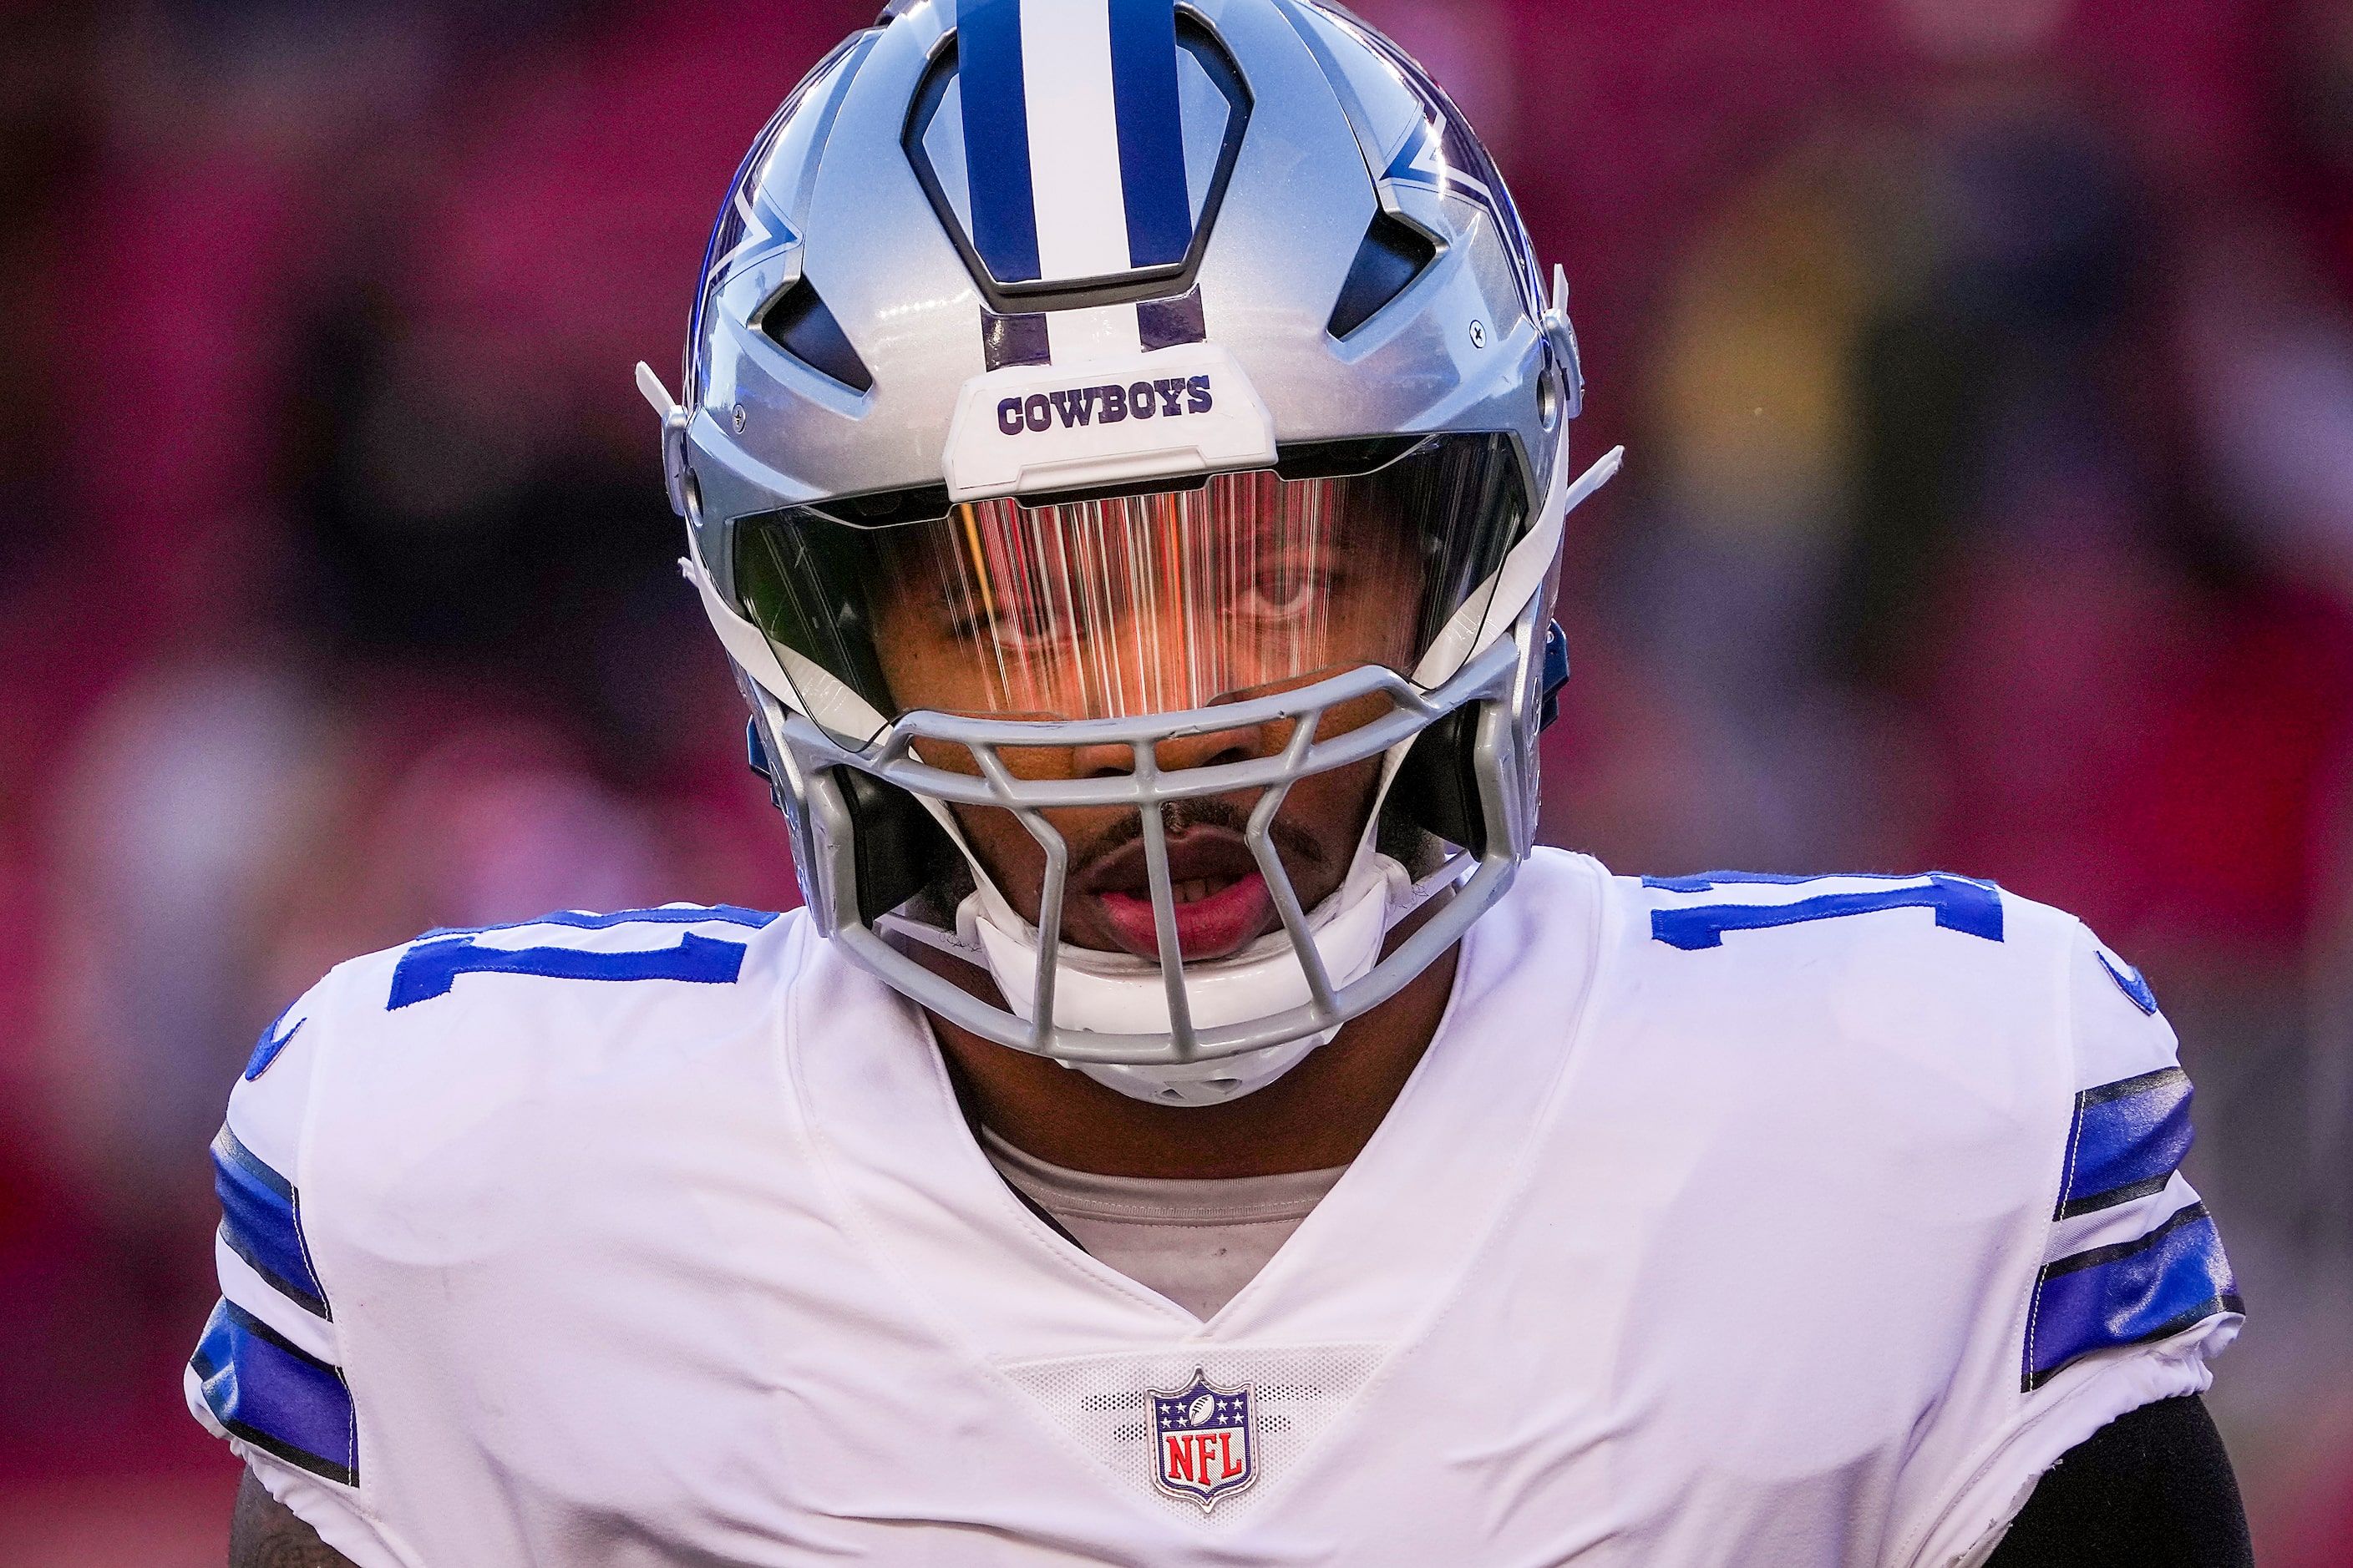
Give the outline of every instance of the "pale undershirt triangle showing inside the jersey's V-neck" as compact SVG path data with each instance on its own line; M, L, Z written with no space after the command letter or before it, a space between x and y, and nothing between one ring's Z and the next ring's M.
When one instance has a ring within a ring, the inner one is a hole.
M1219 1180L1094 1175L1024 1154L986 1126L981 1150L1092 1258L1198 1319L1233 1300L1348 1171Z

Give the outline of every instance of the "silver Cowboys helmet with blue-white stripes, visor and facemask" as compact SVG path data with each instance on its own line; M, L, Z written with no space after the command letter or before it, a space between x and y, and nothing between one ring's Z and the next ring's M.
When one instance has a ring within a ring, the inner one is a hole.
M936 1016L1228 1100L1511 884L1562 517L1619 454L1569 482L1560 273L1362 21L901 0L744 160L682 397L638 378L809 912ZM1351 766L1372 816L1308 907L1278 813ZM1080 806L1127 823L1120 950L1066 926ZM988 811L1042 886L976 851ZM1172 865L1219 811L1224 875Z

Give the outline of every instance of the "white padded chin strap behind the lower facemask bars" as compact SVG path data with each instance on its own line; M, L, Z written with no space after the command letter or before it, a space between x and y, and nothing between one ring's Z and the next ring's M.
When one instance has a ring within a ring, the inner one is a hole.
M1365 853L1355 858L1348 882L1308 910L1308 933L1322 954L1332 990L1372 973L1381 957L1381 938L1419 903L1414 891L1414 879L1402 865L1381 853ZM981 893L965 898L955 926L965 943L988 954L988 973L995 976L1005 1006L1031 1020L1038 1001L1038 929ZM1186 964L1184 990L1198 1030L1285 1013L1306 1006L1311 997L1306 969L1282 931L1261 936L1233 957ZM1101 1034L1167 1032L1169 1001L1160 966L1127 952L1094 952L1064 943L1054 964L1054 1023ZM1153 1105L1221 1105L1266 1088L1334 1034L1337 1027L1198 1063L1064 1065Z

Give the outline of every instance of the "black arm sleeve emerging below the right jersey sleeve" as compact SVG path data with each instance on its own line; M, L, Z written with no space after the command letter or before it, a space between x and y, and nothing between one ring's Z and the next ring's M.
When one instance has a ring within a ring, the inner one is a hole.
M2254 1568L2205 1401L2160 1399L2068 1448L1986 1568Z

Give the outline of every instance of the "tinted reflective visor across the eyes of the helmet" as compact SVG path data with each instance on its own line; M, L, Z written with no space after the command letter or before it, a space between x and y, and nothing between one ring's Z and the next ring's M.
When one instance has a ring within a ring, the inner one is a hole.
M1045 505L929 496L739 522L736 609L807 712L833 708L809 665L885 719L1129 717L1367 663L1409 675L1527 529L1508 435L1285 449L1268 470Z

